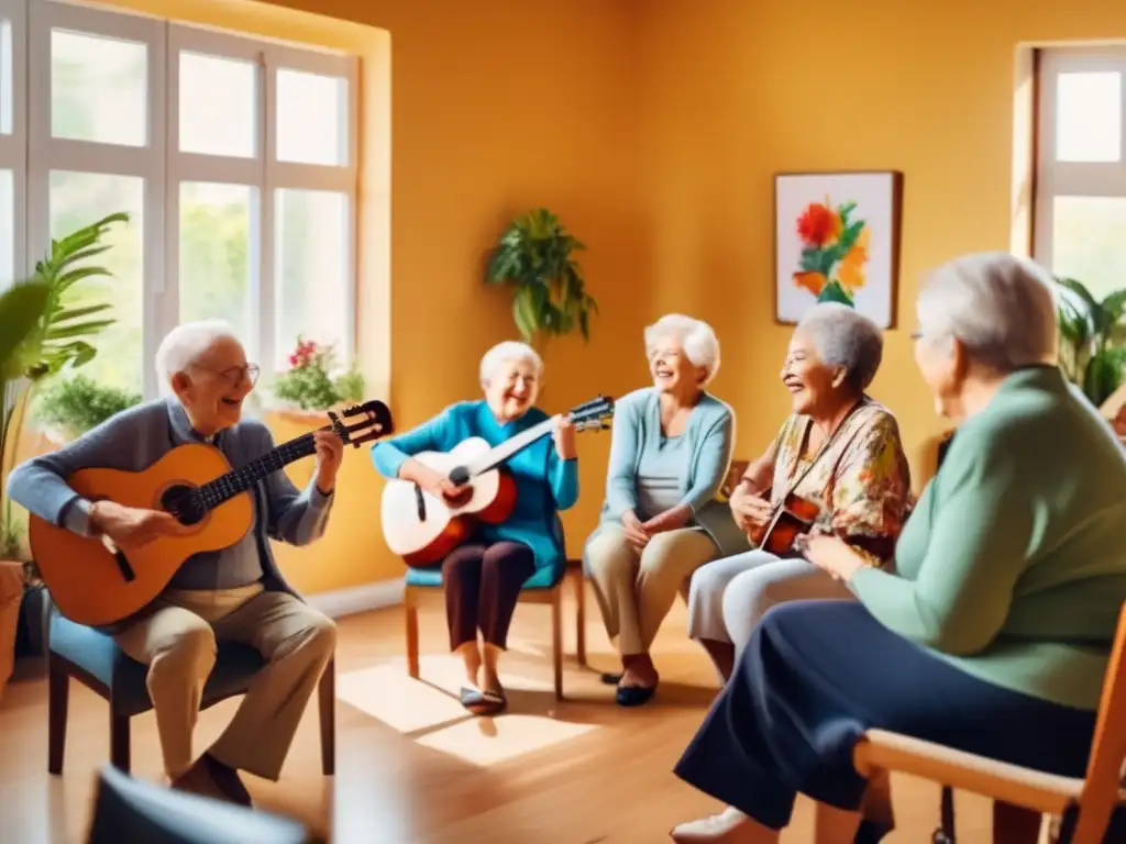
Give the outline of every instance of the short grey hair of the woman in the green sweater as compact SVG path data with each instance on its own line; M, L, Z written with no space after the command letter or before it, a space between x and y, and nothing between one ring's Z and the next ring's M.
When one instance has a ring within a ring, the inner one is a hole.
M956 338L969 357L999 372L1055 363L1052 276L1008 252L977 252L938 267L915 309L923 339Z

